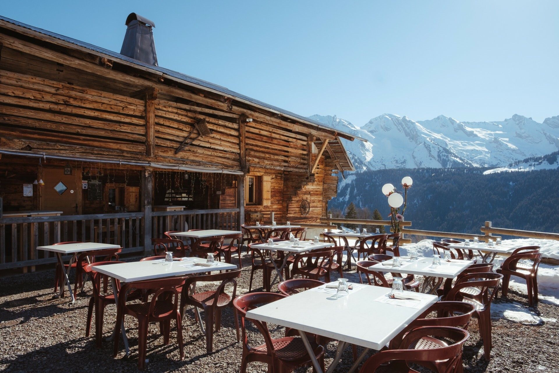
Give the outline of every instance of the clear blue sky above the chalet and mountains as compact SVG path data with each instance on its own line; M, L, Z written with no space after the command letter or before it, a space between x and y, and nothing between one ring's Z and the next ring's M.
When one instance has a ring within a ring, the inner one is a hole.
M301 115L559 115L559 1L10 1L3 16L120 51L130 12L159 65Z

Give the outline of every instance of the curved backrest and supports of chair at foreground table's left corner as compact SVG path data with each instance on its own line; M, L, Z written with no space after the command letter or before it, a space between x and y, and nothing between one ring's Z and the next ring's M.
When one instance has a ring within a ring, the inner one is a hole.
M257 308L258 305L264 305L268 303L272 303L273 301L280 300L285 298L286 295L283 294L276 294L273 292L249 292L247 294L239 295L233 300L233 306L238 311L241 317L241 330L243 332L243 351L248 352L250 351L250 346L248 343L248 334L245 328L245 320L249 320L252 322L262 336L264 337L264 342L266 343L266 352L267 355L272 355L275 353L274 346L272 343L272 337L270 336L270 332L268 330L268 326L265 322L248 319L246 318L247 312L249 310Z

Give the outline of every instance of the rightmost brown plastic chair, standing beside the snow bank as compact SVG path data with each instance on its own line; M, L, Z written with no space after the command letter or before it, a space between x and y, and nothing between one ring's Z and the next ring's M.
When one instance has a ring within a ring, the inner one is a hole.
M519 263L520 259L529 259L532 265ZM520 247L506 258L497 273L503 274L503 286L501 294L506 296L509 292L510 276L518 276L526 280L528 287L528 305L533 306L538 303L538 267L542 260L542 254L539 252L539 246Z

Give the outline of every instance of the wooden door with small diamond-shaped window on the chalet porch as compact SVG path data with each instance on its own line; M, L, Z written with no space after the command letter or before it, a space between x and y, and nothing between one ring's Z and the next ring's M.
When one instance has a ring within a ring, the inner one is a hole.
M71 175L65 175L63 168L42 169L41 210L63 211L64 215L79 214L79 199L82 195L81 184L78 187L80 169L73 168Z

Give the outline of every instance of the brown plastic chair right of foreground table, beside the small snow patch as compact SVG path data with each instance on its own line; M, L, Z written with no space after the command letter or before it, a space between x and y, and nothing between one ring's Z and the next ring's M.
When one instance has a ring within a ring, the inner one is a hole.
M465 301L476 306L473 317L479 320L481 339L484 341L485 360L491 360L491 301L497 294L499 282L503 278L500 273L470 273L456 281L444 300ZM477 287L479 294L463 294L466 287Z

